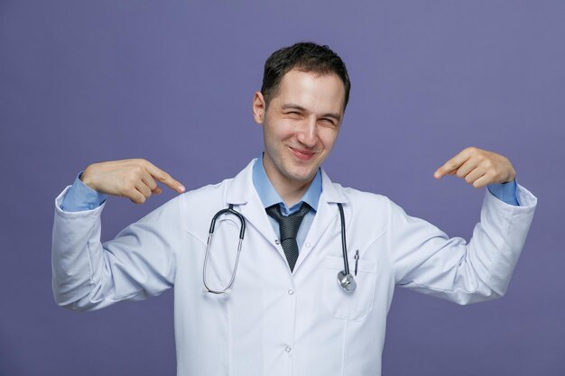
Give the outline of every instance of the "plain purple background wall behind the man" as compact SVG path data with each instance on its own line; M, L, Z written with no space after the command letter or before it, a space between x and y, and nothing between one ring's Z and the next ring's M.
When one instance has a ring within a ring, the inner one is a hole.
M264 60L313 40L353 83L334 181L468 238L484 191L431 175L477 145L540 198L505 298L458 307L397 289L384 375L565 375L565 3L265 3L0 1L0 374L174 374L171 291L56 307L53 199L99 160L143 157L187 188L233 176L262 151ZM110 197L104 237L171 197Z

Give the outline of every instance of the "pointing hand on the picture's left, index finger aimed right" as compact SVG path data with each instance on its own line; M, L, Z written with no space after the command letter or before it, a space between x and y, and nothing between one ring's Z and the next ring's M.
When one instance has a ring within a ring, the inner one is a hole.
M185 190L181 183L148 160L94 163L84 170L80 179L88 188L106 195L127 197L135 204L143 204L152 194L162 192L155 180L179 193Z

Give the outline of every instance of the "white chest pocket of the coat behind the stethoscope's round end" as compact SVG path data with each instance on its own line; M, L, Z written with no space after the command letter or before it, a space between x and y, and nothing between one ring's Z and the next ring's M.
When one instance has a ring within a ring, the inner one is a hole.
M343 271L343 258L326 256L322 279L322 299L329 314L344 320L363 321L373 310L375 300L376 261L359 259L357 289L347 292L338 283L338 272ZM349 259L349 271L355 274L355 260Z

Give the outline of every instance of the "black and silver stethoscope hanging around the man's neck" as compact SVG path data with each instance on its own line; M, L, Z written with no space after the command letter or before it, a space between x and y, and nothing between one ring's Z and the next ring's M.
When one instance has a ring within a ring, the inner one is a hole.
M347 291L348 293L353 292L357 288L357 282L355 278L349 272L349 262L347 261L347 243L346 243L346 220L343 214L343 206L338 203L339 209L339 219L341 222L341 251L343 253L343 271L338 272L338 284L339 286ZM214 235L214 228L216 227L216 220L219 216L222 215L233 215L239 219L239 241L237 243L237 254L236 254L236 263L234 265L234 271L231 275L231 279L229 283L227 283L226 289L210 289L208 286L208 282L206 281L206 266L208 265L208 256L210 252L210 244L212 243L212 236ZM216 213L215 216L212 217L212 222L210 224L210 229L208 231L208 242L206 243L206 254L204 256L204 267L202 270L202 280L204 281L204 288L202 289L203 292L209 292L212 294L229 294L231 292L231 287L234 284L234 280L236 280L236 272L237 272L237 264L239 263L239 254L241 253L241 243L244 241L245 235L245 217L242 216L241 213L234 210L234 206L232 204L227 207L227 209L222 209ZM356 254L356 260L358 255Z

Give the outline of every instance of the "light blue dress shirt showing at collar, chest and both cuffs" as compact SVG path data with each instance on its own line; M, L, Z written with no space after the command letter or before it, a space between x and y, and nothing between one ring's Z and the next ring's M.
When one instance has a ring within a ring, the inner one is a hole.
M80 174L77 176L72 187L69 188L69 191L63 198L60 205L62 210L68 212L92 210L106 201L106 195L88 188L79 178ZM310 225L312 225L312 222L314 221L314 216L316 216L316 212L318 211L318 202L320 201L322 191L320 169L312 180L310 187L304 193L304 196L301 197L301 201L291 207L286 206L286 204L282 202L281 196L273 188L273 184L271 184L271 181L267 177L263 166L263 154L256 160L253 167L253 185L255 186L255 190L257 191L263 206L267 208L274 204L279 204L281 206L282 216L290 216L292 213L297 212L302 203L310 205L311 210L302 219L301 227L296 235L296 243L298 243L298 248L300 249L302 243L304 243L304 240L306 239L308 231L310 230ZM488 186L488 190L496 198L504 201L508 205L520 206L516 197L516 189L515 180L510 183L490 184ZM274 234L280 236L279 223L270 216L269 220L271 225L273 225Z

